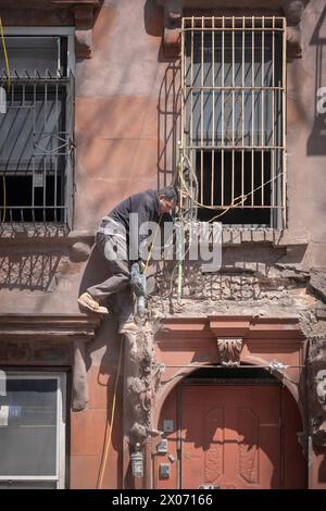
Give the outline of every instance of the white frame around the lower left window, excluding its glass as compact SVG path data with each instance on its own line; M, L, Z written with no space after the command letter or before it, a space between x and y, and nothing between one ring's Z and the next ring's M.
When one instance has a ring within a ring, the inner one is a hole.
M57 379L57 449L55 449L55 475L0 475L0 483L26 482L46 483L53 482L57 489L65 487L65 428L66 428L66 374L64 372L33 372L11 371L2 369L7 379ZM10 485L8 485L10 487ZM13 486L14 488L14 486Z

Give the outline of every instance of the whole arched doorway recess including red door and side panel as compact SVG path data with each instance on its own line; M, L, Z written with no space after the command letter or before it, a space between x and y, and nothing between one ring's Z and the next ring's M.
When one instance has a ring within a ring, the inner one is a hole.
M197 370L165 400L159 428L155 488L306 487L298 406L265 370Z

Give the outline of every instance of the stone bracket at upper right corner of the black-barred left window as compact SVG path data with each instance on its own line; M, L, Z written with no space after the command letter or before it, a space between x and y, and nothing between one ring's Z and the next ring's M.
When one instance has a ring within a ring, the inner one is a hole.
M75 16L76 55L89 59L92 51L92 25L99 0L51 0L55 5L68 8Z

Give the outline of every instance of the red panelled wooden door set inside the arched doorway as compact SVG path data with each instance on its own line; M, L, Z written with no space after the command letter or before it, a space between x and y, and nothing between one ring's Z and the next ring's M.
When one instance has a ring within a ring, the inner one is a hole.
M283 487L280 392L266 385L183 385L181 488Z

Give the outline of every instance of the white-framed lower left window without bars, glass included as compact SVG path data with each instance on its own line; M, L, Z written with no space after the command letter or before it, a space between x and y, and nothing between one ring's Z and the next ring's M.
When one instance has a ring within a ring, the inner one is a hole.
M63 488L65 374L5 372L2 394L0 488Z

